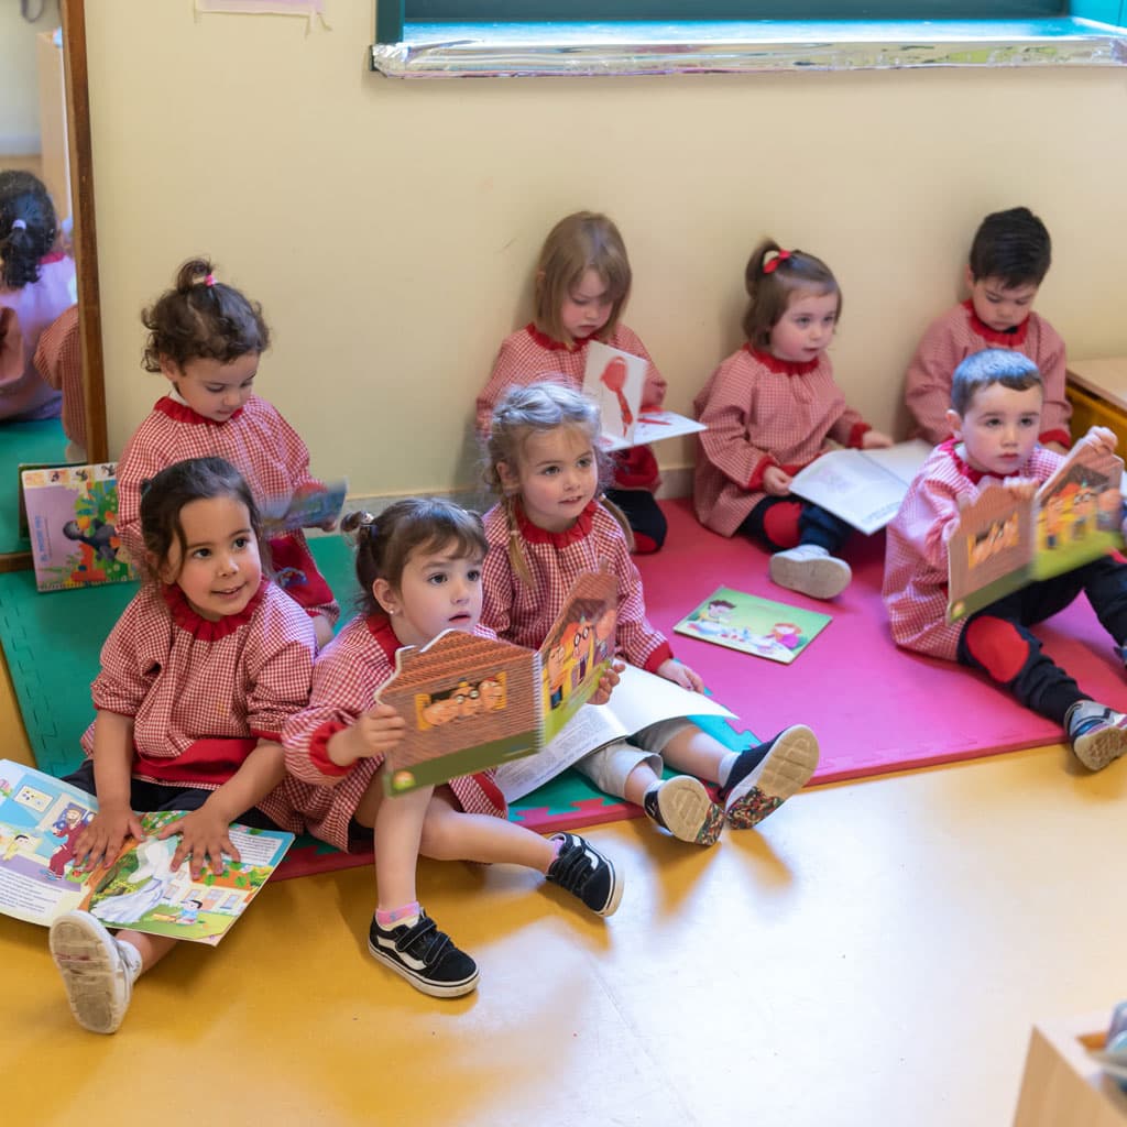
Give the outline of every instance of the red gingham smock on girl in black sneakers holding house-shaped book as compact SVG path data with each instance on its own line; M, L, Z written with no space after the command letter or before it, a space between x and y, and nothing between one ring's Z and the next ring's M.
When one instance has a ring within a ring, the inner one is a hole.
M496 635L479 625L479 638ZM375 691L396 672L399 639L382 615L357 615L320 653L313 668L309 707L292 716L282 733L285 745L286 796L305 819L309 832L339 850L348 850L348 824L383 756L339 766L329 758L329 739L350 728L375 702ZM508 816L496 772L479 771L447 786L468 814Z

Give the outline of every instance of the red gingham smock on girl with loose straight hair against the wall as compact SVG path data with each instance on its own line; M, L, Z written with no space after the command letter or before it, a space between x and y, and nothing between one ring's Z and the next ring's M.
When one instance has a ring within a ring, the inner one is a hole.
M597 338L588 337L577 345L565 345L545 336L535 325L526 325L509 334L502 341L485 391L478 396L478 434L489 433L494 408L514 384L523 388L538 380L562 376L569 387L582 391L583 372L587 366L587 344L594 339ZM633 329L620 322L604 343L649 361L641 406L660 407L665 402L665 378ZM615 454L614 464L614 483L624 489L656 489L660 483L657 459L649 446L633 446Z

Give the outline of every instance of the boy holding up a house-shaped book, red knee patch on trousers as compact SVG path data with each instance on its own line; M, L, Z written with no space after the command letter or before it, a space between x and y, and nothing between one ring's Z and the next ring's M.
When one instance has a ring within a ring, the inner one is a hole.
M947 549L962 506L987 485L1028 496L1063 461L1037 441L1042 394L1037 365L1021 353L991 348L959 364L947 412L953 437L932 451L888 525L881 594L897 646L986 673L1026 708L1059 724L1076 757L1099 771L1127 752L1127 716L1083 693L1029 627L1083 592L1122 653L1127 562L1118 553L947 622ZM1111 452L1116 436L1092 427L1081 442Z

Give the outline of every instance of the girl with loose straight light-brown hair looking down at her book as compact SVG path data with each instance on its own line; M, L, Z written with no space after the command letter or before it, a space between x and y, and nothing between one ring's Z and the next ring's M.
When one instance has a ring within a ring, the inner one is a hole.
M478 396L479 434L489 433L494 407L513 384L561 380L582 388L591 340L649 361L641 406L662 406L662 373L637 334L619 321L630 281L622 236L605 215L576 212L552 228L536 264L533 320L502 341L489 382ZM637 552L656 552L665 543L665 514L654 497L659 485L649 446L615 455L614 486L607 496L625 515Z

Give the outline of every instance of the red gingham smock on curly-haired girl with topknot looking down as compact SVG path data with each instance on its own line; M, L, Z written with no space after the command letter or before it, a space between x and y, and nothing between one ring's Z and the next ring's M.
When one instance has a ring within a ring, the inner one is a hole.
M225 423L215 423L171 396L157 401L125 444L117 463L117 534L134 559L142 558L141 482L188 458L225 458L246 479L255 500L292 498L320 489L309 472L309 451L298 432L265 399L251 396ZM340 606L309 552L300 529L270 541L276 570L299 567L307 583L286 594L309 614L336 622Z

